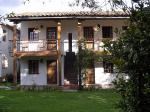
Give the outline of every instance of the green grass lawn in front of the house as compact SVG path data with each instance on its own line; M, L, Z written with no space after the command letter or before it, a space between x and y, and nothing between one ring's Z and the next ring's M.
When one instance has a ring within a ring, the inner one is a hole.
M113 90L27 92L0 90L0 112L118 112Z

